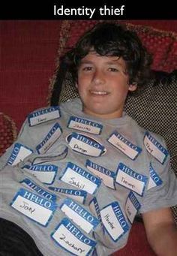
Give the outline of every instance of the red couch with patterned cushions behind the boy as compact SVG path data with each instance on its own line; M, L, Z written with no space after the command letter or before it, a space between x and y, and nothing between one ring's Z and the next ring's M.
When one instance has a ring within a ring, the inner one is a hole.
M100 21L1 22L1 46L5 52L2 51L1 56L0 154L16 139L29 112L77 97L77 92L71 91L70 77L65 77L64 81L59 78L59 58L86 29L97 22ZM140 125L165 137L172 156L172 170L177 175L177 33L130 21L124 23L128 29L139 34L145 47L154 56L151 67L154 75L151 81L141 95L128 98L126 111ZM36 35L36 38L32 35ZM47 51L49 48L50 51ZM31 70L28 70L30 67ZM58 83L58 98L53 98L52 90ZM177 223L177 209L173 207L172 210ZM141 218L137 218L127 246L114 255L142 254L152 256L154 252L148 245Z

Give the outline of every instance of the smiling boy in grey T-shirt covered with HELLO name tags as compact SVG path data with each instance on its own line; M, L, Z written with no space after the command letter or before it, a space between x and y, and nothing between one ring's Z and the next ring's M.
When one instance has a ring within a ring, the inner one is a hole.
M109 255L126 244L140 212L156 254L175 255L169 207L177 203L177 182L166 145L124 113L127 93L145 83L150 64L133 32L113 23L95 26L62 62L80 99L31 113L2 156L1 217L23 227L43 254ZM51 251L43 248L46 241Z

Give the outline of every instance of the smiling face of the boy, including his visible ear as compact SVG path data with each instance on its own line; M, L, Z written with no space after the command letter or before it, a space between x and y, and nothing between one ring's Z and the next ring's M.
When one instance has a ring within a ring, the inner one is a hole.
M90 52L78 69L77 88L83 112L104 119L121 117L127 92L136 89L128 80L124 59Z

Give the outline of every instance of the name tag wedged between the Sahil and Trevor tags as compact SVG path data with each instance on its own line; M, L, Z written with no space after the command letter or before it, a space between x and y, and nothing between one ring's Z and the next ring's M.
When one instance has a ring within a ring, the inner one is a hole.
M96 176L101 178L104 182L104 185L107 185L109 188L115 189L115 173L111 170L108 170L101 165L95 164L90 160L86 161L86 167Z

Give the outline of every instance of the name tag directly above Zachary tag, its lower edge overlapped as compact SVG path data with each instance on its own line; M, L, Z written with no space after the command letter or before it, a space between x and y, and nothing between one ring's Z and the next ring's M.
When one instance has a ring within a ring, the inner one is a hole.
M94 215L71 198L66 198L62 203L62 206L60 206L60 209L62 209L62 212L65 212L65 215L80 226L86 233L95 230L100 223Z

